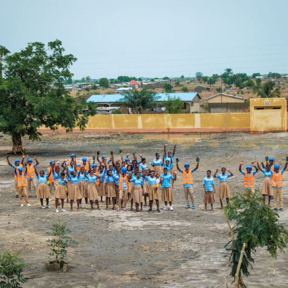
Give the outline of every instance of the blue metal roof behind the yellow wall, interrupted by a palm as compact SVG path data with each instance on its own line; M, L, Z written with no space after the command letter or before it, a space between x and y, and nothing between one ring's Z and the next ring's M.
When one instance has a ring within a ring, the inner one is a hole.
M171 97L179 97L182 101L193 101L194 98L198 95L200 99L201 96L197 92L177 92L177 93L168 93ZM166 99L166 93L157 93L159 96L159 100L157 102L162 102ZM121 98L124 97L124 94L105 94L105 95L91 95L87 102L94 102L94 103L113 103L119 102Z

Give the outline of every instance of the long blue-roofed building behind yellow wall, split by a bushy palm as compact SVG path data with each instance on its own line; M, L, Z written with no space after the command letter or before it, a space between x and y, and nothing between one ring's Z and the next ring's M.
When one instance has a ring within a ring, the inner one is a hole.
M166 100L166 93L156 94L159 99L157 100L158 108L162 108L162 102ZM201 112L200 111L200 99L201 96L197 92L187 93L169 93L171 97L179 97L183 102L182 113ZM124 97L123 94L107 94L107 95L91 95L87 102L94 102L100 107L120 107L120 110L124 114L130 113L129 108L121 106L119 104L120 99Z

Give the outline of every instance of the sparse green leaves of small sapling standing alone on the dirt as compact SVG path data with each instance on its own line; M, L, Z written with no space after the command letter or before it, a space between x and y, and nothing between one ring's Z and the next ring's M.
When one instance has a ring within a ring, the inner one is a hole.
M55 256L55 261L60 263L61 260L67 255L66 248L69 244L77 245L78 243L74 241L71 237L67 236L71 231L66 228L66 224L62 223L60 219L55 221L50 228L52 232L47 232L49 235L55 236L53 239L48 239L48 246L51 247L50 256Z

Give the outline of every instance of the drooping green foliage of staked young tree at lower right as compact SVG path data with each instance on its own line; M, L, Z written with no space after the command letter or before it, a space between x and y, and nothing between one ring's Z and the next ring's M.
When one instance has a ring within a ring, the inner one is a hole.
M241 254L243 244L246 243L241 273L249 276L249 266L254 263L253 254L256 254L258 247L266 247L273 258L277 257L277 249L284 252L288 242L288 231L278 223L279 215L269 207L262 206L263 198L259 190L255 196L246 193L236 193L230 199L229 205L224 208L228 220L233 221L232 231L234 241L225 245L227 251L231 252L230 263L232 266L230 276L234 277Z

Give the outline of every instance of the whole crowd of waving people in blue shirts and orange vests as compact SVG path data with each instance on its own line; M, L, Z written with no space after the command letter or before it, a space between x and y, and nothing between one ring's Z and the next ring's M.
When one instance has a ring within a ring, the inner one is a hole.
M149 198L149 210L153 211L154 200L156 202L157 212L160 212L159 200L164 202L165 207L163 210L173 210L172 202L174 201L173 187L174 181L177 179L177 172L174 167L174 155L176 145L173 152L166 153L166 146L164 145L163 158L160 154L156 153L156 157L152 162L149 162L150 168L146 163L146 159L139 153L140 161L137 161L136 153L130 160L129 153L124 159L122 150L119 151L121 161L114 161L114 155L111 151L110 160L107 156L103 155L101 159L100 151L97 156L93 156L91 160L82 158L82 163L78 163L76 155L71 154L70 159L64 160L62 165L55 161L50 161L47 167L46 175L43 170L37 172L36 166L39 164L37 157L34 157L36 163L33 163L28 155L22 156L22 161L16 159L14 164L9 161L8 164L14 169L15 173L15 187L16 197L20 198L20 204L23 206L23 199L30 206L29 199L31 198L31 183L36 190L36 198L40 199L41 208L51 208L49 202L52 198L52 191L54 190L56 212L59 212L58 206L61 205L62 211L64 209L64 201L70 202L69 211L73 210L73 203L77 203L77 211L81 211L82 199L85 200L85 206L88 206L88 199L90 210L93 210L93 205L97 205L100 209L100 201L103 202L103 197L106 197L106 209L109 210L109 205L112 204L112 209L126 211L127 202L130 202L130 211L133 210L135 204L135 212L143 212L143 206L147 206L147 198ZM26 158L26 162L25 161ZM97 161L96 161L97 160ZM277 197L279 197L279 208L283 210L283 185L282 173L287 167L288 157L286 157L286 164L284 168L279 171L279 165L275 164L273 158L265 157L266 165L263 162L260 169L258 161L252 162L252 166L247 166L246 171L242 170L243 161L240 162L239 171L244 175L244 188L248 189L250 193L255 193L254 175L258 170L264 173L263 182L263 200L268 196L268 206L270 200L274 197L274 209L277 210ZM99 165L95 163L99 163ZM185 163L184 170L179 168L179 159L176 158L176 168L183 174L182 185L186 199L186 209L195 209L194 190L193 190L193 173L198 169L200 158L196 159L197 165L194 169L190 169L189 163ZM256 166L257 164L257 166ZM252 171L252 167L255 170ZM163 169L163 170L162 170ZM226 171L228 173L226 173ZM226 198L227 204L229 203L230 188L228 185L228 178L233 176L229 168L222 168L221 173L216 169L213 177L211 170L207 171L207 176L203 179L205 211L207 211L207 204L211 204L213 211L213 204L215 203L215 182L213 178L219 179L219 192L218 199L220 200L221 208L223 208L222 200ZM36 188L36 178L38 180L38 188ZM57 181L58 180L58 181ZM159 186L161 185L161 194ZM27 196L26 186L28 186ZM45 200L45 205L43 201ZM112 203L111 203L112 202ZM144 205L143 205L144 202ZM169 208L168 208L169 203Z

